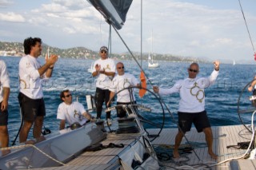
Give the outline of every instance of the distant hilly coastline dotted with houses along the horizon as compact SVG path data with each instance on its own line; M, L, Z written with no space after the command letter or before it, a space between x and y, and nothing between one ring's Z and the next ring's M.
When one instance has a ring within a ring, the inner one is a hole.
M93 51L91 49L86 49L85 47L74 47L70 49L59 49L46 44L43 44L42 56L45 56L47 49L49 48L49 53L55 53L61 57L70 58L85 58L85 59L96 59L98 58L98 51ZM23 44L21 42L0 42L0 56L18 56L24 55ZM139 52L133 52L134 57L138 60L141 59ZM130 53L112 53L111 57L119 60L131 60L132 57ZM142 54L142 60L147 60L148 53ZM158 54L154 53L154 60L156 61L175 61L175 62L209 62L202 58L197 57L181 57L174 56L172 54Z

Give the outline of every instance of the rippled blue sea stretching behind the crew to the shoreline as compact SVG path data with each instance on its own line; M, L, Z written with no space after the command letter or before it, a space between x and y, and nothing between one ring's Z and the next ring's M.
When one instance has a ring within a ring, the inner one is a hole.
M9 133L10 144L18 133L18 128L21 125L21 117L18 105L18 62L20 57L0 57L6 61L8 71L10 73L11 93L9 99ZM39 60L44 63L43 58ZM54 73L50 81L44 85L44 99L46 102L46 117L44 127L49 128L51 132L58 131L59 121L56 119L58 105L62 102L59 98L59 93L63 89L70 89L73 94L73 100L80 101L85 108L86 95L94 95L95 78L87 71L90 68L93 60L87 59L67 59L60 57L57 64L54 66ZM117 61L116 61L117 62ZM126 72L139 77L140 69L135 61L122 61L125 65ZM138 61L139 63L141 61ZM252 61L254 62L254 61ZM154 121L155 125L161 125L165 121L165 128L176 127L178 109L178 94L161 97L158 100L152 92L152 85L170 88L178 79L187 77L187 67L189 63L160 61L160 67L148 69L147 62L142 61L142 69L145 70L148 91L145 97L138 97L138 89L134 89L138 104L150 107L151 112L142 112L142 116L150 121ZM200 77L208 77L214 69L214 65L201 64ZM253 80L256 73L255 65L220 65L220 73L214 85L206 89L206 111L210 117L211 125L238 125L241 121L238 117L239 109L254 109L251 106L249 97L251 93L246 90L246 85ZM245 90L243 90L245 89ZM241 92L244 93L241 93ZM239 98L240 96L240 98ZM238 102L238 99L240 102ZM159 103L159 101L162 101ZM165 105L168 109L165 108ZM169 111L169 112L168 112ZM164 113L163 113L164 112ZM95 113L92 113L95 115ZM116 117L116 113L112 112L112 117ZM164 118L162 118L164 115ZM171 117L174 117L174 119ZM252 113L240 114L244 123L250 123ZM105 117L105 113L102 113ZM155 128L155 127L153 127ZM31 137L31 133L30 133Z

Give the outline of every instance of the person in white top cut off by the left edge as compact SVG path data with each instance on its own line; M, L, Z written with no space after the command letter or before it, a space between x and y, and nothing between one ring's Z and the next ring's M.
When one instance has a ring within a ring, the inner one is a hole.
M0 60L0 148L8 147L8 99L10 95L10 78L5 61ZM3 151L2 151L3 152Z

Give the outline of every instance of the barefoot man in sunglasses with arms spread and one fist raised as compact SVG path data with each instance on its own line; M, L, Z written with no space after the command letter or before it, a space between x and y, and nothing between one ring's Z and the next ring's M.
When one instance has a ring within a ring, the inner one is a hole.
M194 123L198 132L205 133L209 155L214 159L218 158L213 152L213 134L210 128L210 121L206 115L204 89L214 84L218 77L219 65L219 61L214 61L214 71L210 74L210 77L197 77L199 65L198 63L192 63L187 69L189 77L177 81L172 88L159 89L157 86L153 87L154 92L159 93L159 95L180 94L178 134L175 137L174 158L179 157L178 147L182 142L182 137L186 132L190 131L192 123Z

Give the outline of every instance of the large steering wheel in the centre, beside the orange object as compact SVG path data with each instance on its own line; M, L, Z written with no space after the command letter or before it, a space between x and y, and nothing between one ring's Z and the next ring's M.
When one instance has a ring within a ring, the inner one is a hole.
M129 90L130 92L130 98L132 97L132 93L134 93L134 89L144 89L144 88L139 88L136 86L133 87L128 87L128 88L124 88L120 91L118 91L118 93L122 93L122 91L124 90ZM165 123L165 111L163 109L163 105L161 100L159 99L159 97L152 91L150 91L149 89L145 89L146 93L144 97L140 98L135 94L136 97L136 104L131 103L130 105L128 105L128 107L133 107L135 114L138 117L138 120L140 121L142 127L144 128L144 130L146 131L147 128L158 128L159 130L157 130L157 132L154 132L156 134L150 134L148 131L147 135L150 138L150 141L155 140L159 134L162 132L162 128L164 126ZM117 97L118 93L114 94L114 97L112 97L110 99L110 102L112 103L111 105L113 105L113 100L114 98ZM110 108L107 108L105 111L110 111L110 110L114 110L118 107L122 107L122 105L115 105L115 106L111 106ZM109 126L110 128L110 126Z

